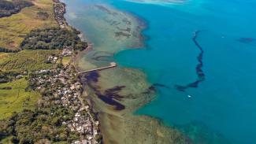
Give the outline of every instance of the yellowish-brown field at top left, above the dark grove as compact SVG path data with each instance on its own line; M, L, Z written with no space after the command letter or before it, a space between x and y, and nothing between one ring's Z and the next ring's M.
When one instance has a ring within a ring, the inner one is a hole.
M25 35L35 28L58 26L54 20L51 0L34 0L35 6L24 8L20 13L0 19L0 47L17 50ZM40 17L44 13L44 17Z

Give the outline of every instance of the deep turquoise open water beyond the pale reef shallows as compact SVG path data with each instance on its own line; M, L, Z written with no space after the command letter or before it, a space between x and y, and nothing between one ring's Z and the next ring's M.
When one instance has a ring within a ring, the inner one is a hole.
M231 143L256 143L256 0L190 0L167 6L104 2L147 22L144 49L120 52L117 63L140 68L150 83L165 85L135 114L158 117L180 129L196 124ZM194 40L203 50L204 79L198 87L180 91L176 85L199 79L202 51L193 41L195 31L200 31ZM185 132L192 137L193 131Z

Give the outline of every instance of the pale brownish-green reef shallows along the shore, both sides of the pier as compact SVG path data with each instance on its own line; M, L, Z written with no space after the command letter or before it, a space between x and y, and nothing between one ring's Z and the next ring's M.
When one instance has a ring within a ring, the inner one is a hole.
M141 32L146 25L138 17L102 4L83 9L84 14L90 17L72 12L67 15L72 21L84 19L87 27L98 37L94 42L87 33L89 31L82 31L87 36L85 39L91 40L91 46L76 57L80 70L109 65L117 52L143 46ZM133 114L154 100L156 94L154 86L147 82L147 76L139 69L118 66L84 74L82 79L85 81L86 98L98 113L105 143L190 143L180 131L164 126L160 120Z

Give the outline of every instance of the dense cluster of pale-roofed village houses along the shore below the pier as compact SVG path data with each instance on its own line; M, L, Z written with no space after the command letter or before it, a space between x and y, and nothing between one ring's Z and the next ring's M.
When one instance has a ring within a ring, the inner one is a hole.
M60 56L50 56L54 63L58 57L72 55L72 51L68 48L63 49ZM80 135L80 139L73 142L74 144L97 144L101 141L99 131L99 122L95 120L94 113L91 112L90 105L83 101L81 94L83 87L77 78L77 72L72 65L64 68L43 69L32 73L30 83L35 90L50 90L54 98L54 105L63 105L68 109L72 109L72 120L62 121L62 125L69 127L70 131ZM50 88L49 88L50 87Z

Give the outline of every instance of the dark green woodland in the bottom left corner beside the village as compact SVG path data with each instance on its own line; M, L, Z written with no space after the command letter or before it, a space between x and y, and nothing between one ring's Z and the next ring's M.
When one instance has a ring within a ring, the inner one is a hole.
M0 139L11 138L13 143L71 143L79 135L69 131L63 120L69 120L72 112L61 105L50 108L24 110L14 113L9 120L0 120Z

